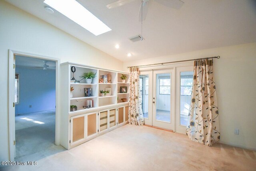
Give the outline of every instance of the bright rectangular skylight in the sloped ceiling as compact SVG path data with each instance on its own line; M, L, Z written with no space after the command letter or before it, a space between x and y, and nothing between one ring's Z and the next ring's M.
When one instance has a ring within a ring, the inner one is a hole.
M95 36L111 30L90 11L76 2L76 0L45 0L44 3L76 22Z

